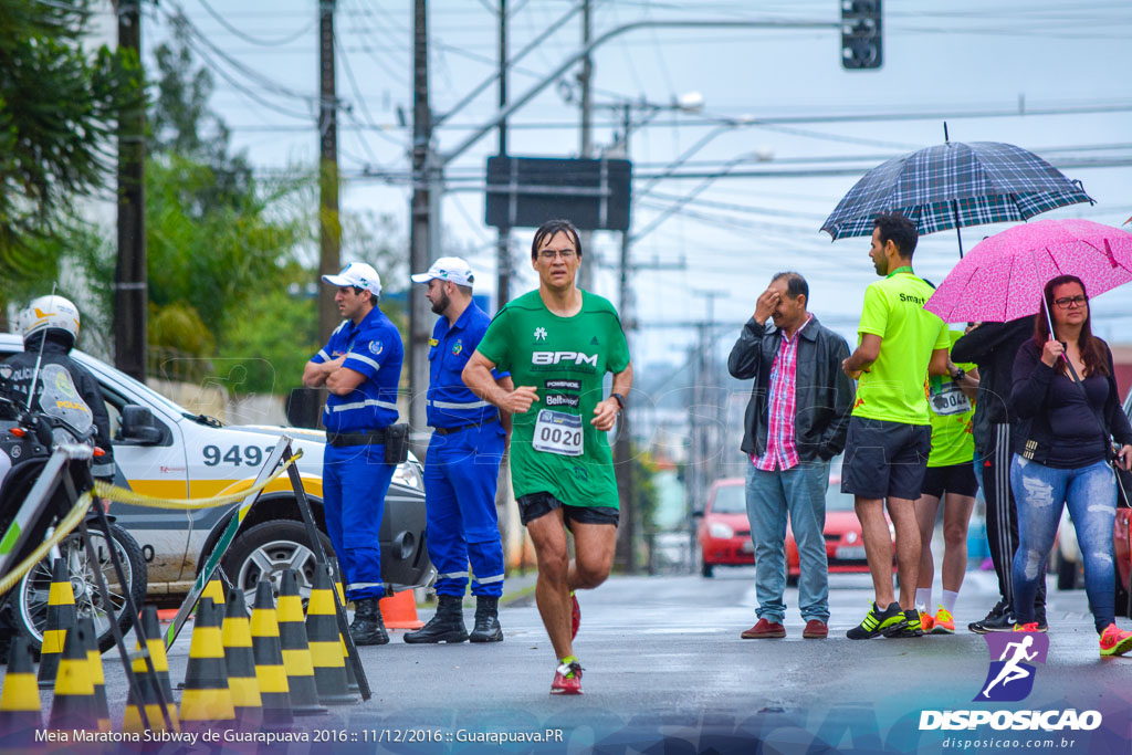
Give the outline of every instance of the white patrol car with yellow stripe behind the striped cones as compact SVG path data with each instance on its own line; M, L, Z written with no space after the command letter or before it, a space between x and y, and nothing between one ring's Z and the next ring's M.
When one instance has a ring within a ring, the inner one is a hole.
M23 351L23 341L0 334L0 360ZM323 516L323 447L319 430L267 426L222 426L192 414L152 388L77 349L71 357L98 380L110 414L115 484L163 498L211 498L249 487L286 432L302 449L298 469L311 509L332 554ZM115 503L110 513L142 546L148 564L148 598L177 598L189 591L199 567L235 513L234 506L170 512ZM424 548L424 486L415 458L398 465L385 499L380 529L381 577L386 589L424 585L432 565ZM288 475L277 478L251 507L221 561L235 586L254 599L263 577L276 583L283 569L302 575L303 594L315 575L307 539ZM249 603L250 604L250 603Z

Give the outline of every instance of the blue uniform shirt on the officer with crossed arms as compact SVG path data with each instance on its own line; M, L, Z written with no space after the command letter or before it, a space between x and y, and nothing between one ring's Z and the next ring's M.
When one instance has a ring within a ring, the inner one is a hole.
M397 384L404 349L396 326L375 307L360 325L343 320L310 361L319 364L345 354L343 367L366 380L348 396L331 394L323 410L328 432L376 430L397 421Z

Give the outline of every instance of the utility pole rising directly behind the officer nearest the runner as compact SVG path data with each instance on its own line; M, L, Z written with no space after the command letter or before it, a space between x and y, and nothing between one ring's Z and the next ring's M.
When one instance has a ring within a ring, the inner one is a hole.
M413 1L413 198L409 230L409 268L426 271L431 256L430 233L440 233L432 217L432 113L428 101L428 2ZM435 228L430 228L435 223ZM409 286L409 423L422 432L424 397L428 392L428 340L431 311L424 286ZM415 444L414 444L415 445ZM423 451L423 449L421 449ZM421 454L423 455L423 454Z

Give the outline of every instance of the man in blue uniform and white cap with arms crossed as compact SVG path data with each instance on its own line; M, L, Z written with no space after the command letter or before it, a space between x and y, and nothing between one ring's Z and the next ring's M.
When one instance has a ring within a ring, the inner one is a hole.
M323 281L338 288L334 301L345 318L302 372L303 386L331 392L323 411L326 530L354 603L350 634L355 644L384 645L378 530L396 469L385 463L385 429L397 421L401 334L377 308L381 281L372 267L351 263Z

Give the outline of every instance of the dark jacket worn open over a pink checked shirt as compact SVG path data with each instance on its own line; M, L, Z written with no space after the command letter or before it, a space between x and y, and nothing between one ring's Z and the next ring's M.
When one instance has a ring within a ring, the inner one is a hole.
M731 377L754 378L740 446L746 454L766 453L771 368L781 341L777 327L751 318L727 360ZM794 428L800 461L830 460L844 451L856 393L852 380L841 371L848 357L846 340L823 327L816 317L799 334Z

